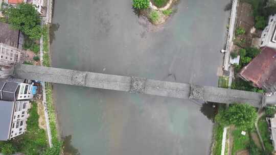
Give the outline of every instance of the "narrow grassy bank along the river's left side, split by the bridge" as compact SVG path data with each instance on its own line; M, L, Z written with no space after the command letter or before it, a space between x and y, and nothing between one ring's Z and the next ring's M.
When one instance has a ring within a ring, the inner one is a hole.
M48 25L44 25L43 27L43 66L50 66ZM62 142L58 139L57 121L55 115L55 107L53 103L53 89L50 83L45 83L45 91L53 147L45 151L44 154L58 155L61 151Z

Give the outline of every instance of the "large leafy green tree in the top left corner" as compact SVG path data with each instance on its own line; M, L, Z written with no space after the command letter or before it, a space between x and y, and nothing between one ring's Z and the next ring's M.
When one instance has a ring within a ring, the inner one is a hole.
M33 5L20 4L16 8L10 6L4 13L13 29L22 31L30 39L41 37L40 17Z

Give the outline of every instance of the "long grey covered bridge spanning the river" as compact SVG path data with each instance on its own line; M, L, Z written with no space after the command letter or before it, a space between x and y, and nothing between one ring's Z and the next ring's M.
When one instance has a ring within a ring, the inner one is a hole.
M18 64L12 67L7 74L12 74L18 79L118 90L130 93L197 99L223 104L233 104L234 102L248 103L258 108L266 104L276 103L275 96L273 96L274 98L271 96L268 98L268 96L256 92L53 67Z

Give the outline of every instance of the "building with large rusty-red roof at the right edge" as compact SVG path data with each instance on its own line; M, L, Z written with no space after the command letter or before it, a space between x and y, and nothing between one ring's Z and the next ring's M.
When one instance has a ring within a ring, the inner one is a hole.
M240 77L250 81L255 87L267 92L276 91L276 50L263 47L262 52L254 58L241 72Z

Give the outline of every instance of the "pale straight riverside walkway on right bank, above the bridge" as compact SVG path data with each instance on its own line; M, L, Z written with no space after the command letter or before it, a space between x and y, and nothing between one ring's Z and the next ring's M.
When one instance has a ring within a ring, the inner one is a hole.
M233 44L233 37L234 37L234 31L235 31L235 22L236 22L236 16L237 16L237 6L238 6L238 0L233 0L232 2L232 9L231 9L231 15L230 15L230 21L229 21L229 29L228 29L228 35L227 35L227 41L226 41L226 48L225 48L225 55L224 55L224 70L229 70L229 59L230 59L230 52L231 52L231 46Z

